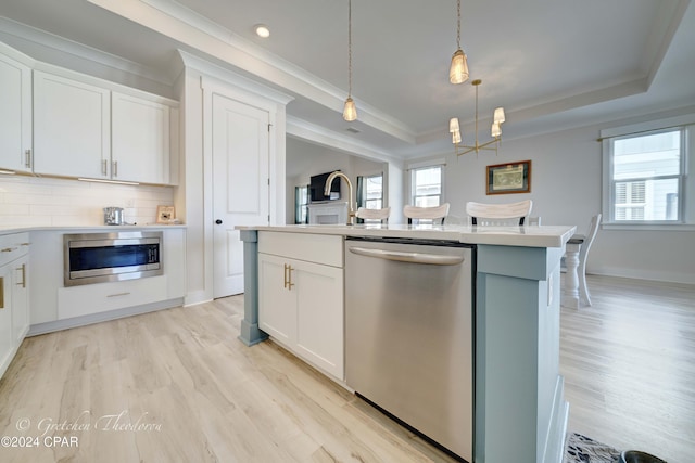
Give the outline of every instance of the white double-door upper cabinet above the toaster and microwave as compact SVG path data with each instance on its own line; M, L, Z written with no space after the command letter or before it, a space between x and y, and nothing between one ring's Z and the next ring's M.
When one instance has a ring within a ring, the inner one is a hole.
M170 176L178 147L175 102L106 87L88 76L34 72L34 172L176 183Z

